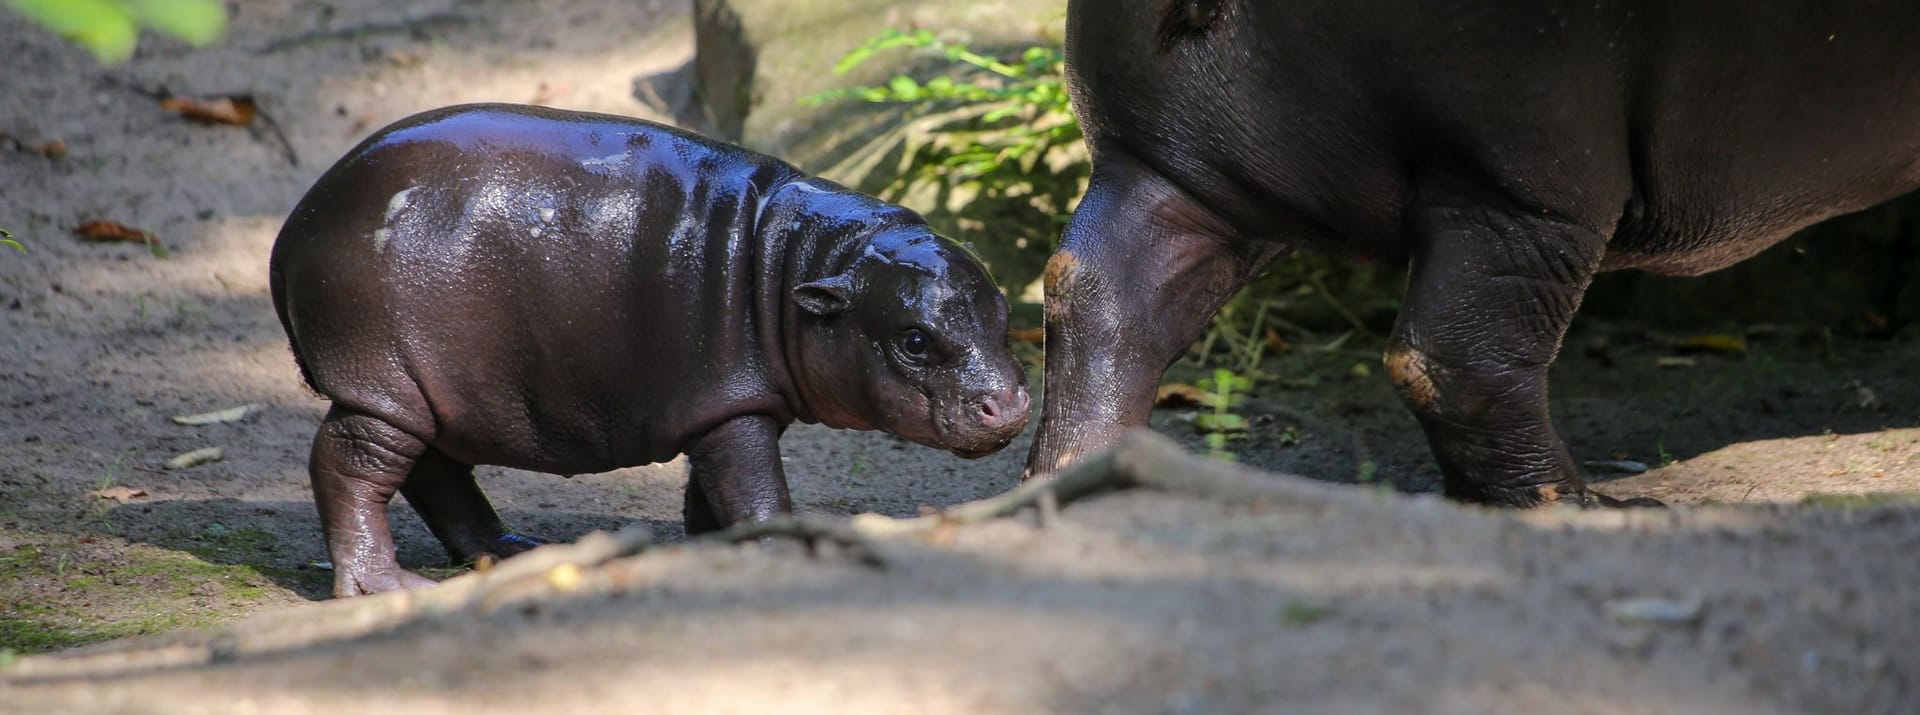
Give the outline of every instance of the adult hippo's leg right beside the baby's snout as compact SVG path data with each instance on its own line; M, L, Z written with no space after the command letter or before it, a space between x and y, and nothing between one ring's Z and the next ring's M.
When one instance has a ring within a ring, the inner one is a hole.
M1212 213L1129 158L1096 161L1046 261L1046 394L1023 479L1144 427L1167 365L1279 254L1223 240Z

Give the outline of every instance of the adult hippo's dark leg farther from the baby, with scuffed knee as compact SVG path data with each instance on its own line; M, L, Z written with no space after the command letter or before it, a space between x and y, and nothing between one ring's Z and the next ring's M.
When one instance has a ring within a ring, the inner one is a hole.
M1590 496L1548 415L1548 365L1605 252L1553 215L1423 196L1386 373L1459 500L1617 504Z

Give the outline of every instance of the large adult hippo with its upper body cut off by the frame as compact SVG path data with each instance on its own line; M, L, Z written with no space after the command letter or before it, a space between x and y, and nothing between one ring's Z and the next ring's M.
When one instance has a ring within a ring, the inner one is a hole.
M1405 265L1388 377L1453 498L1590 496L1548 365L1596 271L1697 275L1920 186L1920 2L1073 0L1092 183L1029 475L1146 425L1296 246Z

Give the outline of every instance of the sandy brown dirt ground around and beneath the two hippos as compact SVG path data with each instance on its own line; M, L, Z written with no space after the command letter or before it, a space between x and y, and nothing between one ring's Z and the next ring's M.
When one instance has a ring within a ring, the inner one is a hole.
M305 456L324 402L273 317L267 252L326 163L453 102L647 115L634 77L691 52L687 10L666 0L234 8L225 46L148 38L113 69L0 13L0 227L27 246L0 248L0 711L1920 707L1920 336L1820 327L1743 327L1745 356L1657 367L1688 334L1576 325L1553 373L1561 432L1578 459L1653 467L1592 477L1665 511L1121 494L1048 529L891 544L885 571L670 548L609 565L603 594L538 609L48 675L60 661L19 655L323 607L307 604L330 575L315 567ZM271 131L186 123L136 88L253 94L300 161ZM56 140L63 156L38 152ZM90 219L154 231L165 256L67 234ZM1434 492L1379 344L1334 338L1263 365L1275 379L1240 409L1254 429L1231 450L1317 482ZM244 404L263 409L169 421ZM1165 409L1156 427L1196 446L1185 417ZM960 461L795 427L781 446L801 511L914 515L1014 486L1023 444ZM163 469L205 446L225 459ZM534 534L680 536L680 463L480 475ZM396 530L403 563L444 565L411 511L396 509ZM1636 623L1634 598L1682 613Z

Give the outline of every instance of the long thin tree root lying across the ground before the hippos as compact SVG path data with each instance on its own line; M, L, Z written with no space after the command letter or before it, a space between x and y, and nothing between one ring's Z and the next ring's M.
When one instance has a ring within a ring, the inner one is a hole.
M1060 505L1112 490L1152 488L1225 502L1279 502L1336 507L1363 505L1375 498L1363 490L1338 488L1304 479L1277 479L1250 467L1206 459L1181 450L1173 440L1150 431L1133 431L1112 448L1089 456L1052 479L1029 481L1018 488L948 507L945 511L893 519L864 513L852 519L818 515L780 517L737 525L689 540L697 544L741 544L764 538L799 538L810 550L820 542L837 544L860 563L885 567L883 540L924 536L954 527L1010 517L1050 500ZM436 588L324 602L267 613L211 632L186 632L83 648L67 653L25 657L0 677L52 680L192 667L240 655L290 652L326 642L344 642L390 632L413 623L451 615L492 613L515 605L551 600L555 594L607 592L614 586L597 567L659 546L641 527L620 532L593 532L574 544L549 544L515 555L484 571L447 579Z

